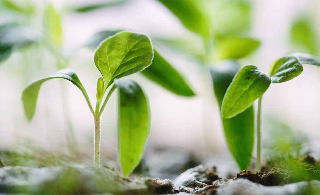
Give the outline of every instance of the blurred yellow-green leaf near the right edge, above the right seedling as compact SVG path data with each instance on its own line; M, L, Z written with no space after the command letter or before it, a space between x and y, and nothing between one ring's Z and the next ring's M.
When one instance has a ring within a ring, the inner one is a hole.
M291 26L291 42L303 47L309 53L316 54L319 50L318 37L312 27L311 19L299 18Z

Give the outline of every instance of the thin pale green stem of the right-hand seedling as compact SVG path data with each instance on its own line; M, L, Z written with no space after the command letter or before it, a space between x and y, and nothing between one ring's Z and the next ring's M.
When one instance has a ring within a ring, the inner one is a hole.
M258 111L257 111L257 163L256 170L261 170L261 101L262 95L258 99Z

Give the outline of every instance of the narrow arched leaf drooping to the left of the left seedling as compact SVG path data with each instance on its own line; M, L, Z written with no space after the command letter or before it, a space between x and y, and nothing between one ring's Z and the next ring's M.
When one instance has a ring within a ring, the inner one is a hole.
M87 94L86 90L84 89L84 87L83 87L82 83L80 82L76 73L69 68L65 68L65 69L62 69L62 70L60 70L50 76L47 76L43 79L40 79L36 82L31 83L22 91L22 103L23 103L23 107L24 107L24 111L26 113L27 119L29 121L32 120L32 118L35 114L38 94L39 94L39 90L40 90L42 83L45 81L48 81L50 79L54 79L54 78L66 79L66 80L72 82L74 85L76 85L81 90L88 105L90 104L88 94ZM89 108L90 108L90 110L92 110L91 104L89 105Z

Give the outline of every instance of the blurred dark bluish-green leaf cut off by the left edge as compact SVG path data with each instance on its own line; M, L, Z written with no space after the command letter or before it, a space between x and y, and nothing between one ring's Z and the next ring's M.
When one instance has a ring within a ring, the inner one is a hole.
M26 27L13 24L0 26L0 63L18 50L36 42L36 35Z

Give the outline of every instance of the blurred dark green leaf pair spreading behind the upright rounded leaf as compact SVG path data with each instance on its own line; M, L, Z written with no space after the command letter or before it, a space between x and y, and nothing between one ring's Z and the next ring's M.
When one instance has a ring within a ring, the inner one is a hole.
M96 48L101 41L109 36L115 35L117 32L119 31L100 31L92 36L92 38L86 43L86 46L92 49ZM98 55L100 55L97 52L96 54L97 57ZM98 62L99 60L96 60L96 65L98 64ZM177 95L187 97L195 95L183 76L173 66L171 66L157 51L154 51L152 66L143 70L141 73L149 80L156 82L160 86Z

